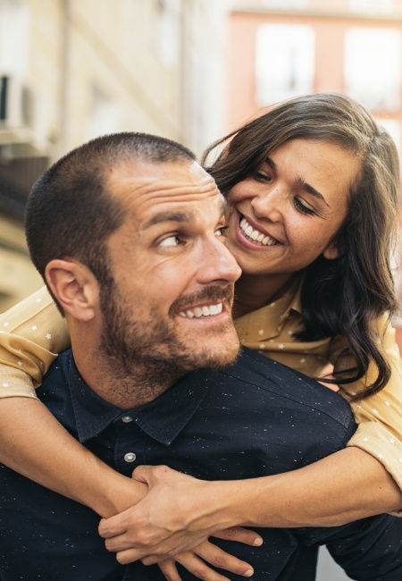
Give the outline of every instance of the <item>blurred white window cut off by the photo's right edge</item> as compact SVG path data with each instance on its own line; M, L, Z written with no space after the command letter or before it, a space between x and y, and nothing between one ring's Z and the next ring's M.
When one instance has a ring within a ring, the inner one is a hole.
M345 38L348 94L369 109L398 110L401 46L401 35L396 29L349 29Z

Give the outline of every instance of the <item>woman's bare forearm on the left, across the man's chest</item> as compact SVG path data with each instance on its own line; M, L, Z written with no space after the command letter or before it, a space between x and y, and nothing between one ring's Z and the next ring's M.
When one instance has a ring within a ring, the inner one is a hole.
M0 399L0 462L102 517L127 509L146 486L121 476L77 442L30 398Z

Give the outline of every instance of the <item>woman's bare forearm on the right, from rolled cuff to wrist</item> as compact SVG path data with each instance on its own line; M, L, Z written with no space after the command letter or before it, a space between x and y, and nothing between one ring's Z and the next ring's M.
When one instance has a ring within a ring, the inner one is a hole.
M355 447L293 472L238 484L239 504L230 502L230 510L243 525L338 526L402 509L402 492L386 469Z

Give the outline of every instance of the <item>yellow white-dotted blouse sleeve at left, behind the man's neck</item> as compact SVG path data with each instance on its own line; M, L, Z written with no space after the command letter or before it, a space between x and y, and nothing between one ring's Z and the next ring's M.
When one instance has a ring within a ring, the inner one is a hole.
M57 353L67 349L67 324L46 287L0 316L0 397L36 397Z

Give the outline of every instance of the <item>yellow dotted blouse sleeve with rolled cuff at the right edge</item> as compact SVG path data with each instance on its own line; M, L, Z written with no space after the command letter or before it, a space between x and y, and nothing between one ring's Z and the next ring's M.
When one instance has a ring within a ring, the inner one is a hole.
M348 446L357 446L380 460L402 490L402 362L395 329L385 316L379 323L379 332L391 367L389 383L381 392L351 403L358 427ZM375 366L369 367L368 381L371 382L375 376ZM342 385L340 392L348 398L361 392L364 383L363 378Z

